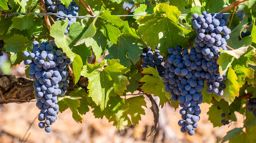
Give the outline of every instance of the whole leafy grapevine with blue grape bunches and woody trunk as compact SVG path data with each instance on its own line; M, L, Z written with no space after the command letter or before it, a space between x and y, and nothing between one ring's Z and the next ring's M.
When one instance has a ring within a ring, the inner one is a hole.
M255 6L251 0L3 0L0 56L8 60L0 73L20 66L25 74L0 75L0 103L34 101L36 126L48 135L66 110L78 123L92 112L125 129L143 122L150 108L150 135L161 129L163 137L170 133L157 128L160 107L170 103L180 114L166 121L179 126L173 142L182 133L202 138L197 130L206 112L213 127L241 121L222 142L253 142Z

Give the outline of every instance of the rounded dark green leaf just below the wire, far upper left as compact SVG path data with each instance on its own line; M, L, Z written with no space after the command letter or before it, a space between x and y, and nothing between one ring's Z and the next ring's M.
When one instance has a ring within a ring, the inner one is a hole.
M11 19L14 28L24 30L29 29L34 23L34 15L23 15Z

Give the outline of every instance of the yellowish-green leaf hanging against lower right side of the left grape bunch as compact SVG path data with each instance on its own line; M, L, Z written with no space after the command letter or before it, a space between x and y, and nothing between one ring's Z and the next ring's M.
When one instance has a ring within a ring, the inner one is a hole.
M86 93L85 89L82 87L75 88L73 91L69 93L70 96L79 96L80 106L77 107L78 112L81 115L86 114L89 111L89 102L88 102L88 93Z

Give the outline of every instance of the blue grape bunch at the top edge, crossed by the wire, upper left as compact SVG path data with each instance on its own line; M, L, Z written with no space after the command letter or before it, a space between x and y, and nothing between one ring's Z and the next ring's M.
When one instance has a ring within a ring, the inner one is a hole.
M52 13L59 13L59 14L66 14L68 16L78 16L78 11L80 10L80 7L76 5L76 2L73 0L68 7L63 5L60 0L45 0L45 8L48 12ZM61 17L64 17L64 15L59 15ZM56 21L61 21L62 19L59 17L56 17ZM65 18L63 19L65 21ZM65 35L69 33L69 26L73 23L76 23L75 17L68 17L68 27L65 30Z

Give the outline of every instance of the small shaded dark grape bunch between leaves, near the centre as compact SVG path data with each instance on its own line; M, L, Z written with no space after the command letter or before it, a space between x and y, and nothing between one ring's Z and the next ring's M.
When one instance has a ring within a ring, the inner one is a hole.
M164 75L164 67L161 65L164 59L160 55L159 46L155 48L155 51L151 51L151 47L147 46L143 49L141 58L143 59L142 69L150 66L157 69L159 76Z

